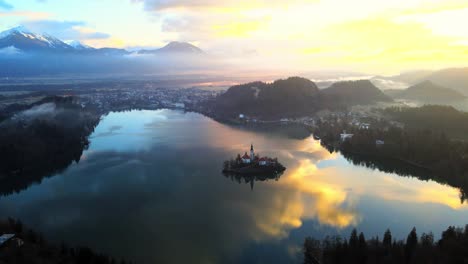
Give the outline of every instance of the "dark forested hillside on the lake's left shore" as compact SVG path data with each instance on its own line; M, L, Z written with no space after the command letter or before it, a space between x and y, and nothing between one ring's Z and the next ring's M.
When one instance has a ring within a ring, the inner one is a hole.
M99 120L73 97L47 97L0 122L0 195L19 192L78 162Z

